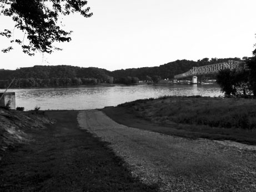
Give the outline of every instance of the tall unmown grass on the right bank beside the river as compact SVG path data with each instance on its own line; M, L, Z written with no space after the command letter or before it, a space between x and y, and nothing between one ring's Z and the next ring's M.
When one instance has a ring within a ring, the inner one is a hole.
M135 113L157 122L208 125L218 128L256 129L256 104L252 99L160 97L133 102Z

